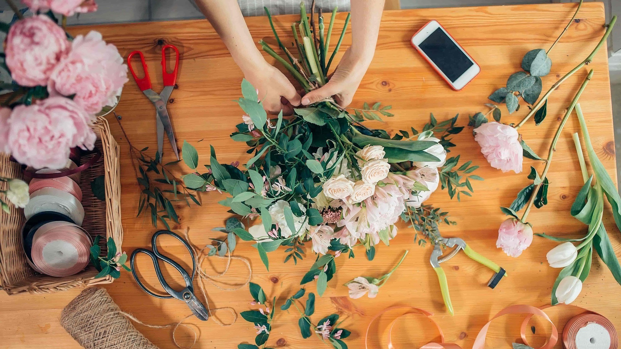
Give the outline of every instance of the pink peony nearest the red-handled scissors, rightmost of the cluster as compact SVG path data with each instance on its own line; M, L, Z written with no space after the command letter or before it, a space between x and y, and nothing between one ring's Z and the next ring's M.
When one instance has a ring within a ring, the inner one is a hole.
M99 32L78 35L68 55L50 76L50 96L71 96L89 114L116 104L116 96L127 83L127 65L119 50L102 40Z

